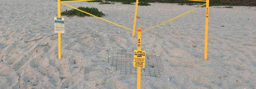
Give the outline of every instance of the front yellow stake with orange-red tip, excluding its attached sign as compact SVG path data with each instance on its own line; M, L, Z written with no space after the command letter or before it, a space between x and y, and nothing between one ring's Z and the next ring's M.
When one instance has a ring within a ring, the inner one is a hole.
M138 51L141 51L141 28L138 28ZM137 68L137 89L141 89L141 67Z

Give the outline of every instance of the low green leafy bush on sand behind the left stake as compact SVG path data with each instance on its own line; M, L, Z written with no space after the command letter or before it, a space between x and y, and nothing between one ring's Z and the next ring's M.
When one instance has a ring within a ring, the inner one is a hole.
M92 15L95 15L97 17L102 17L105 14L102 13L102 11L99 11L97 8L89 8L89 7L78 7L77 9L80 9L82 11L88 12ZM71 10L66 10L61 12L61 15L66 15L67 17L72 17L74 15L78 16L78 17L84 17L84 16L90 16L84 12L78 11L76 9L71 9Z

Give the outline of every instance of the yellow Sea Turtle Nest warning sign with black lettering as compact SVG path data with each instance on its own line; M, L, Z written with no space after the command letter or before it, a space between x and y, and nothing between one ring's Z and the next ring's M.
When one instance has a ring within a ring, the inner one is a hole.
M145 50L134 50L133 54L133 67L142 67L145 68L145 58L146 51Z

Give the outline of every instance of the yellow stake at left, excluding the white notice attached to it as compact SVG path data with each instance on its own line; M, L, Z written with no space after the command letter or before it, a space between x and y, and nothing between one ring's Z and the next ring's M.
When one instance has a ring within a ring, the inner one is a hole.
M58 0L58 18L61 18L60 16L60 0ZM59 59L61 58L61 34L58 33L58 52L59 52Z

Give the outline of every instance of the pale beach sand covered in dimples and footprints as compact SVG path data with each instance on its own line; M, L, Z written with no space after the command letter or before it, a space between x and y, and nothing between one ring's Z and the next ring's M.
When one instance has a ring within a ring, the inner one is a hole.
M133 27L135 5L67 4L96 7L106 14L102 18ZM139 6L137 27L151 28L196 6ZM62 5L66 9L71 8ZM256 88L255 16L256 7L210 7L209 60L203 60L205 8L143 33L142 50L160 55L164 70L160 77L142 75L141 88ZM136 49L132 31L94 17L63 16L66 34L58 60L54 17L56 0L0 0L0 89L136 88L137 75L109 74L106 69L108 57L116 55L113 49Z

